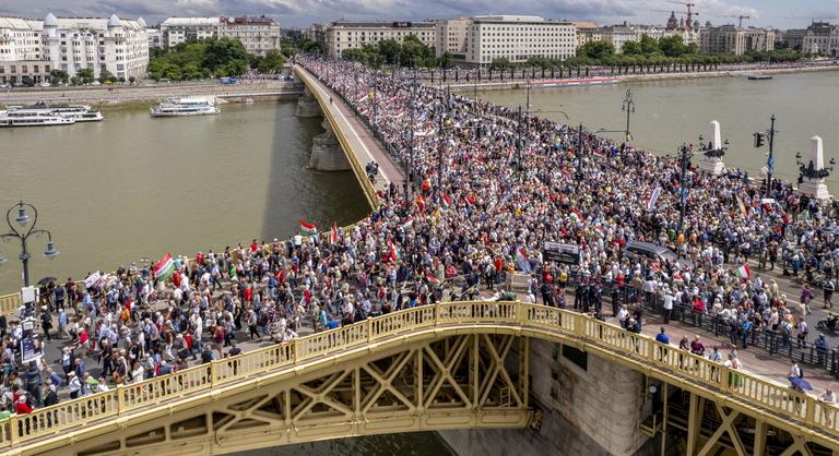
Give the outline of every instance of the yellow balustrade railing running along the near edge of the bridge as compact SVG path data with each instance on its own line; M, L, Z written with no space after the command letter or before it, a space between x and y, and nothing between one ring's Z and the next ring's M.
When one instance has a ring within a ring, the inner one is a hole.
M839 435L837 411L815 397L735 371L704 357L663 345L652 337L627 332L591 316L522 302L446 302L392 312L332 331L316 333L282 345L272 345L235 357L185 369L173 374L118 386L115 389L14 415L0 422L0 447L76 430L93 421L126 416L132 410L158 406L190 395L205 394L224 385L302 368L318 358L340 356L370 343L404 336L423 328L457 325L506 325L566 338L640 361L651 369L677 375L682 381L724 394L791 423Z

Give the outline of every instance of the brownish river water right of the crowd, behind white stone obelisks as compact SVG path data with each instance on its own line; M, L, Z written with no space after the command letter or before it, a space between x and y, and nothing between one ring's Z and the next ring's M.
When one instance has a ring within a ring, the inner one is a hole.
M633 91L635 113L630 131L635 144L661 155L675 154L682 143L709 141L709 122L720 122L722 139L730 147L723 157L729 168L741 168L760 176L768 147L756 149L752 134L769 130L776 115L775 177L797 179L795 153L807 159L810 139L822 136L825 164L839 159L839 72L776 74L769 81L748 81L746 76L697 80L631 82L604 86L531 89L531 110L558 122L587 130L618 130L626 127L621 110L626 89ZM471 93L464 94L471 96ZM527 104L524 89L487 91L478 94L489 101L517 108ZM563 113L568 116L566 120ZM623 134L613 135L621 139ZM695 158L696 160L700 158ZM827 179L828 188L839 192L839 169Z

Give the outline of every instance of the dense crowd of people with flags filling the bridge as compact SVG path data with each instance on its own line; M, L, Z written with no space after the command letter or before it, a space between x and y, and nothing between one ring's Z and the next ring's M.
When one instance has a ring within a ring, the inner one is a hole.
M792 343L811 299L831 305L836 207L788 183L776 183L777 204L768 205L742 172L688 171L678 233L674 159L353 63L303 64L376 125L422 184L407 197L391 185L380 207L350 228L176 259L166 280L140 265L90 286L49 284L38 333L69 340L60 367L22 365L16 350L26 331L0 321L1 408L28 412L56 404L59 393L79 397L235 356L237 333L286 340L303 326L336 327L480 289L505 298L517 271L532 277L530 302L564 307L575 287L575 307L603 313L604 290L633 289L611 295L612 314L627 329L640 331L639 301L681 302L725 317L741 348L759 331L783 332ZM622 247L630 240L667 245L689 262L629 257ZM579 245L579 265L546 260L547 241ZM734 273L754 257L766 268L824 277L824 296L795 297L803 304L792 305L773 280ZM444 297L442 284L452 281ZM91 357L95 367L85 365Z

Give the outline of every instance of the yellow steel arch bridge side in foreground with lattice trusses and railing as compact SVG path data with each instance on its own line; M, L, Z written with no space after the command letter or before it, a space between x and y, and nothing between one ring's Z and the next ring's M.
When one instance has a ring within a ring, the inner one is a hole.
M587 315L522 302L418 307L13 416L0 424L0 449L204 455L537 425L528 384L533 338L689 395L687 454L839 455L835 406Z

